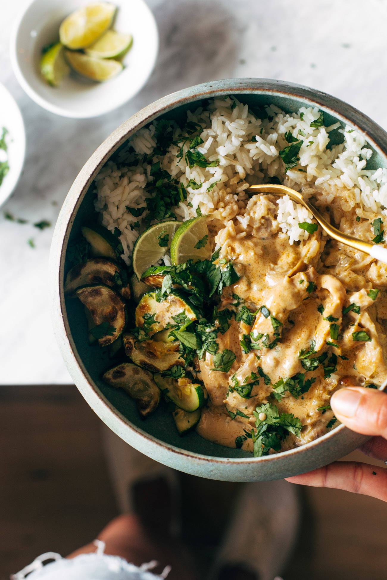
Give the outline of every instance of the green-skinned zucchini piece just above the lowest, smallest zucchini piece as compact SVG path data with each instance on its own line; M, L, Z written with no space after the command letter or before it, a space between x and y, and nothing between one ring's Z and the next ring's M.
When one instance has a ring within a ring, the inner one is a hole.
M162 393L183 411L192 413L203 407L207 401L207 391L200 383L193 383L186 378L172 379L159 374L153 375L153 379Z

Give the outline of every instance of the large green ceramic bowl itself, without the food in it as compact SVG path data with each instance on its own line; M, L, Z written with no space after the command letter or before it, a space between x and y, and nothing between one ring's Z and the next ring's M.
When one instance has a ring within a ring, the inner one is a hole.
M179 437L171 415L161 408L142 420L124 391L112 389L100 379L101 373L111 366L111 360L98 346L88 345L83 307L78 300L65 301L63 293L67 244L79 235L81 225L94 211L92 181L102 165L132 133L153 119L177 119L183 117L188 108L198 106L202 99L229 94L249 105L274 103L288 112L295 112L301 106L317 106L324 111L327 125L339 121L364 133L374 151L372 166L387 166L387 134L381 127L341 100L305 86L270 79L228 79L168 95L143 108L111 133L75 179L60 212L51 248L53 320L64 361L75 385L96 414L129 445L156 461L197 476L262 481L323 466L353 451L366 437L339 426L303 447L254 459L241 449L221 447L194 432Z

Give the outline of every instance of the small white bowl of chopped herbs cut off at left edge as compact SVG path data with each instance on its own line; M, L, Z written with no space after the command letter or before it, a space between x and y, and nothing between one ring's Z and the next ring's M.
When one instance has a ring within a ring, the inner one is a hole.
M15 189L26 154L26 131L23 117L21 117L20 109L13 96L5 86L0 84L0 136L3 127L8 131L5 140L8 145L9 171L0 185L0 205L8 200Z

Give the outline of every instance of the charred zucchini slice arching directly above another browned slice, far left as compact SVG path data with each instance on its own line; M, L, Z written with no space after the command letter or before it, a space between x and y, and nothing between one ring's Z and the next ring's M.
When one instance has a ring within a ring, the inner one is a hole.
M131 289L124 271L111 260L106 258L91 258L82 264L77 264L68 271L64 292L67 296L75 297L75 290L80 286L90 284L105 284L115 287L122 298L131 298Z

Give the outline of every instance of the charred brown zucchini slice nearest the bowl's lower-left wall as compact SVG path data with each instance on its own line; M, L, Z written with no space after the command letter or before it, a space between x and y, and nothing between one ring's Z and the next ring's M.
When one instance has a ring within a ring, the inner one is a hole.
M124 389L137 404L141 416L146 417L160 403L160 389L148 371L131 362L108 369L102 379L111 387Z

